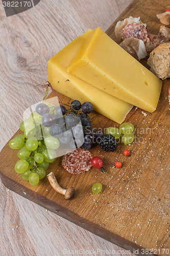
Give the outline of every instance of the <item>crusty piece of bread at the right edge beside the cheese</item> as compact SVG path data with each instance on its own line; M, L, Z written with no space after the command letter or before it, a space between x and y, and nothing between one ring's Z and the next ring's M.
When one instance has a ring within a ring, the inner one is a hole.
M170 42L159 45L151 52L148 65L158 78L164 80L170 77Z

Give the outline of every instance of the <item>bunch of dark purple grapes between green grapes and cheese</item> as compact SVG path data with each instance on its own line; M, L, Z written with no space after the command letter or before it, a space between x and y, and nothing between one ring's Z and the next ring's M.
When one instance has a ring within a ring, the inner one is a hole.
M93 104L88 101L81 104L79 100L73 100L68 106L67 109L59 105L51 111L44 103L36 106L36 112L42 116L41 124L48 127L50 135L58 138L60 143L68 143L71 148L76 145L89 149L95 142L100 143L103 133L95 132L88 115L93 111Z

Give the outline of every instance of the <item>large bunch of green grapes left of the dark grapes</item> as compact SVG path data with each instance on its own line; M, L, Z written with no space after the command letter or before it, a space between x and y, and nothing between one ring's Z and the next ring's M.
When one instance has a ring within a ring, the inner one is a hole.
M49 106L47 109L50 109ZM49 164L56 161L55 150L60 144L57 138L50 135L48 127L42 125L43 113L32 113L29 119L22 121L20 130L24 134L17 135L9 142L11 148L19 149L15 171L32 185L37 185L39 180L45 177L45 170Z

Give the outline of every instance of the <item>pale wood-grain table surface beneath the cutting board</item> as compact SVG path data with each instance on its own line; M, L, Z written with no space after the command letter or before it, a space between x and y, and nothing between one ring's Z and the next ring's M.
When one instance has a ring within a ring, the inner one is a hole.
M131 2L41 0L11 17L0 3L1 150L18 130L23 111L42 100L44 89L36 85L47 80L48 59L88 28L106 31ZM123 248L13 193L1 180L0 202L0 256L60 256L71 250L76 255L89 250L94 255L97 250L98 255L109 250L108 255L125 255Z

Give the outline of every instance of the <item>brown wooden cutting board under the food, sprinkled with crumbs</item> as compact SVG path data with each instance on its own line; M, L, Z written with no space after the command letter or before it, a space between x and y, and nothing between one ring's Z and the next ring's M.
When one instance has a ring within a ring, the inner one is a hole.
M161 23L156 14L164 12L168 4L167 0L135 0L106 33L115 40L114 27L118 20L140 16L142 22L147 24L148 32L157 34ZM142 63L147 67L147 60ZM0 154L0 175L4 185L136 255L148 255L150 252L169 255L169 86L169 79L163 81L154 113L134 107L128 114L125 121L135 126L135 141L131 145L119 143L114 153L104 153L99 145L91 148L93 156L100 156L104 160L107 174L92 167L87 173L71 175L62 167L61 157L50 165L46 174L53 171L62 187L75 187L76 195L72 200L67 201L54 191L46 177L36 186L23 181L14 170L18 161L17 151L12 150L8 143ZM60 96L64 102L71 101ZM93 127L119 127L98 113L93 112L91 117ZM130 157L124 155L125 149L131 151ZM122 168L114 167L116 160L123 163ZM95 182L103 184L102 192L97 195L91 191Z

